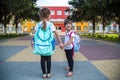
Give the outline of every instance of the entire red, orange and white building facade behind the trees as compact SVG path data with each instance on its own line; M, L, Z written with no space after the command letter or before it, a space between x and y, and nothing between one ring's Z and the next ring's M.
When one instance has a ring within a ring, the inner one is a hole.
M69 6L40 6L41 8L49 8L51 11L51 18L50 21L54 23L56 30L65 32L64 28L64 20L70 15L70 12L66 12ZM6 31L7 33L15 33L15 25L13 25L13 20L11 19L10 23L7 25ZM18 33L30 33L34 30L36 25L35 21L26 20L22 24L18 24ZM91 22L87 21L80 21L73 23L75 31L80 33L92 33L93 32L93 25ZM97 23L95 25L95 31L97 33L103 32L103 26L101 23ZM105 33L118 33L119 32L119 25L115 22L111 22L110 25L105 27ZM0 24L0 34L4 33L4 26Z

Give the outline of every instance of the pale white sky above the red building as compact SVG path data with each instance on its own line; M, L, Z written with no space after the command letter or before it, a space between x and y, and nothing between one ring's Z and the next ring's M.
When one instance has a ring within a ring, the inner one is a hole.
M68 0L38 0L37 6L69 6Z

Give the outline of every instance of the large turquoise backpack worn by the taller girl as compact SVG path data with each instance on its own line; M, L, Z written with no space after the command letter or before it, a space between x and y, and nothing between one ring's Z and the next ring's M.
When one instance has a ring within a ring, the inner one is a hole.
M50 29L52 23L50 23L45 30L42 29L40 23L38 23L38 25L38 30L34 35L33 53L43 56L50 56L54 54L55 49L54 34Z

